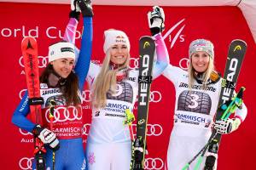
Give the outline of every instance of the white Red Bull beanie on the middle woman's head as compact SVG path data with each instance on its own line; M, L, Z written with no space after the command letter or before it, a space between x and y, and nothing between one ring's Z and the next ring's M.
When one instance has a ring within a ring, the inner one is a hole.
M130 51L130 42L125 32L119 30L107 30L104 31L104 36L105 42L103 50L105 54L107 53L108 48L111 48L115 44L125 44L128 51Z

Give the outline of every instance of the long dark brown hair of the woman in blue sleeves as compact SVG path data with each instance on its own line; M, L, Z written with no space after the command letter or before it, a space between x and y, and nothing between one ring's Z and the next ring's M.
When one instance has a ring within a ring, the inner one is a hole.
M40 76L40 82L48 83L48 77L50 73L54 73L52 65L47 65ZM65 84L61 86L61 93L66 99L66 105L79 105L81 100L79 99L79 77L71 71L65 80Z

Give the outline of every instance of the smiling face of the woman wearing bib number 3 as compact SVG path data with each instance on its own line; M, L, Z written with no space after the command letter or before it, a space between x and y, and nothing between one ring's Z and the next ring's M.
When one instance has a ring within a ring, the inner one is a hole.
M191 56L192 66L197 72L207 71L209 61L210 55L203 51L196 52Z

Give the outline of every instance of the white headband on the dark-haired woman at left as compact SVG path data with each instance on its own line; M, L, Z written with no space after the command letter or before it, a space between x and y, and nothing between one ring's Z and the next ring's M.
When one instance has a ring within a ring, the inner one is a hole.
M49 46L48 61L71 58L75 60L74 45L71 42L57 42Z

